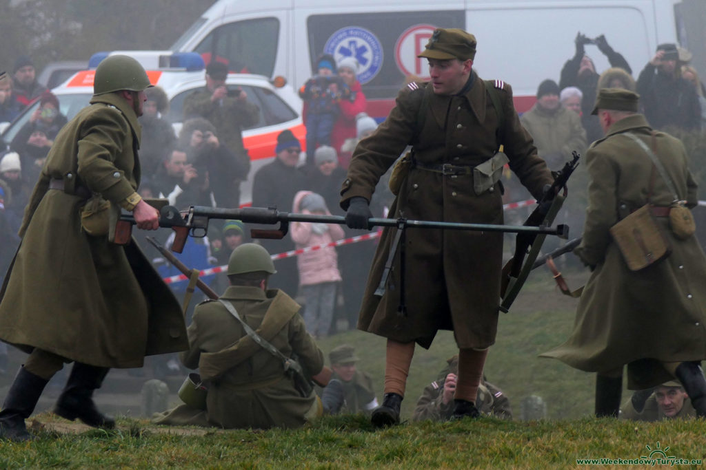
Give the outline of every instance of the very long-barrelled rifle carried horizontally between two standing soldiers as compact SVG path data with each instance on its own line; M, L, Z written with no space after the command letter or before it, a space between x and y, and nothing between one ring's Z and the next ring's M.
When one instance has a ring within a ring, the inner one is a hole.
M267 209L262 207L244 207L241 209L223 209L220 207L191 206L191 208L180 213L173 206L164 206L160 209L160 227L169 227L176 232L172 251L181 253L186 242L186 236L204 237L208 233L208 221L211 219L237 219L244 223L258 223L263 225L274 225L279 223L279 228L275 230L251 229L253 238L267 238L280 240L287 235L290 222L318 222L336 223L345 225L344 216L324 216L316 214L291 214L289 212L277 211L274 207ZM525 226L525 225L493 225L488 223L460 223L460 222L435 222L435 221L415 221L406 218L370 218L369 223L377 227L395 228L437 228L443 230L477 230L485 232L510 232L527 233L530 235L556 235L561 238L568 238L568 225L557 225L551 228L546 225ZM123 214L116 223L114 242L124 245L131 237L132 225L135 219L131 214Z

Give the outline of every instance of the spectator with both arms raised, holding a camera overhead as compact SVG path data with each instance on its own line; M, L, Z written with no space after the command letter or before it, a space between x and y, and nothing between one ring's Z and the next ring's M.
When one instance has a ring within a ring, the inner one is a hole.
M596 102L597 84L599 73L596 71L596 66L585 51L587 44L594 44L598 47L606 58L608 58L611 67L620 67L626 70L628 74L633 73L630 69L628 61L614 51L608 44L604 35L600 35L595 39L591 39L586 35L578 32L576 39L576 53L564 64L561 69L561 78L559 80L559 88L577 87L581 90L583 98L581 100L581 123L586 130L586 141L588 143L598 140L603 137L603 130L596 116L592 116L593 105Z

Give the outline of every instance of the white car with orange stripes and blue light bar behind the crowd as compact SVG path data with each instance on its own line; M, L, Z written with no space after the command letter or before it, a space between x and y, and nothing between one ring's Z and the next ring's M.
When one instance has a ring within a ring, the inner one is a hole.
M192 53L189 53L192 54ZM195 59L193 56L196 56ZM174 66L174 62L162 68L147 70L148 78L152 85L159 85L169 98L169 111L166 118L172 123L175 132L181 129L184 99L189 94L205 87L205 67L198 54L189 57L191 64ZM97 61L89 62L90 66L97 66ZM177 64L179 65L179 64ZM93 94L93 78L95 68L81 70L69 80L52 92L59 99L59 110L66 118L71 120L76 113L88 105ZM277 82L275 86L273 82ZM241 183L241 205L251 203L253 175L275 156L277 135L282 130L292 130L294 136L301 142L302 148L306 141L306 128L301 121L302 101L292 87L287 86L283 80L270 80L263 75L246 73L229 73L226 79L229 89L242 89L247 94L248 101L256 104L260 110L260 120L243 130L243 144L248 149L251 159L251 170L248 179ZM30 104L13 122L2 132L2 140L9 144L22 126L28 122L32 112L39 106L38 101Z

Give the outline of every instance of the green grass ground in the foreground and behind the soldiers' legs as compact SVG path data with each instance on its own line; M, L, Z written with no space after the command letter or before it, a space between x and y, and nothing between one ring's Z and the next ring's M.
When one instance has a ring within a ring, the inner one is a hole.
M556 292L546 273L538 274L510 313L501 316L486 373L508 395L515 416L522 398L541 396L547 404L545 420L405 422L376 431L364 416L327 416L297 431L221 431L121 418L116 431L106 432L42 414L30 419L40 440L0 442L0 468L545 469L584 466L577 459L601 458L613 459L604 461L604 467L618 462L648 466L652 461L640 457L650 454L662 456L664 464L686 459L687 466L700 466L698 459L706 458L706 421L593 419L592 374L537 357L566 339L575 310L575 300ZM569 279L580 285L585 273ZM357 347L359 365L376 379L380 395L385 340L349 331L322 340L321 347L328 354L342 342ZM455 352L448 332L439 333L430 350L417 349L403 419L409 419L421 389Z

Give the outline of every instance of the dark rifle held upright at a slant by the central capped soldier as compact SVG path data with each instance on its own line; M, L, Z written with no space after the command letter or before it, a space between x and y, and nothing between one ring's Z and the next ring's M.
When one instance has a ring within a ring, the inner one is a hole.
M563 168L556 173L554 178L554 183L551 184L549 190L544 192L542 199L537 201L537 209L532 211L530 217L523 226L536 227L549 225L554 221L556 214L559 209L561 209L561 204L563 204L566 198L566 182L568 181L571 173L578 166L578 160L580 158L576 151L571 152L572 159L564 163ZM563 190L563 194L559 194ZM542 248L542 243L544 243L545 235L536 233L517 233L517 240L515 240L515 254L513 257L503 266L502 280L501 280L501 305L500 310L503 312L508 312L510 310L510 305L513 304L517 294L520 292L520 288L525 283L527 276L530 276L530 271L532 271L532 265L534 260L537 259L539 255L539 249ZM525 255L527 255L527 262L525 263Z

